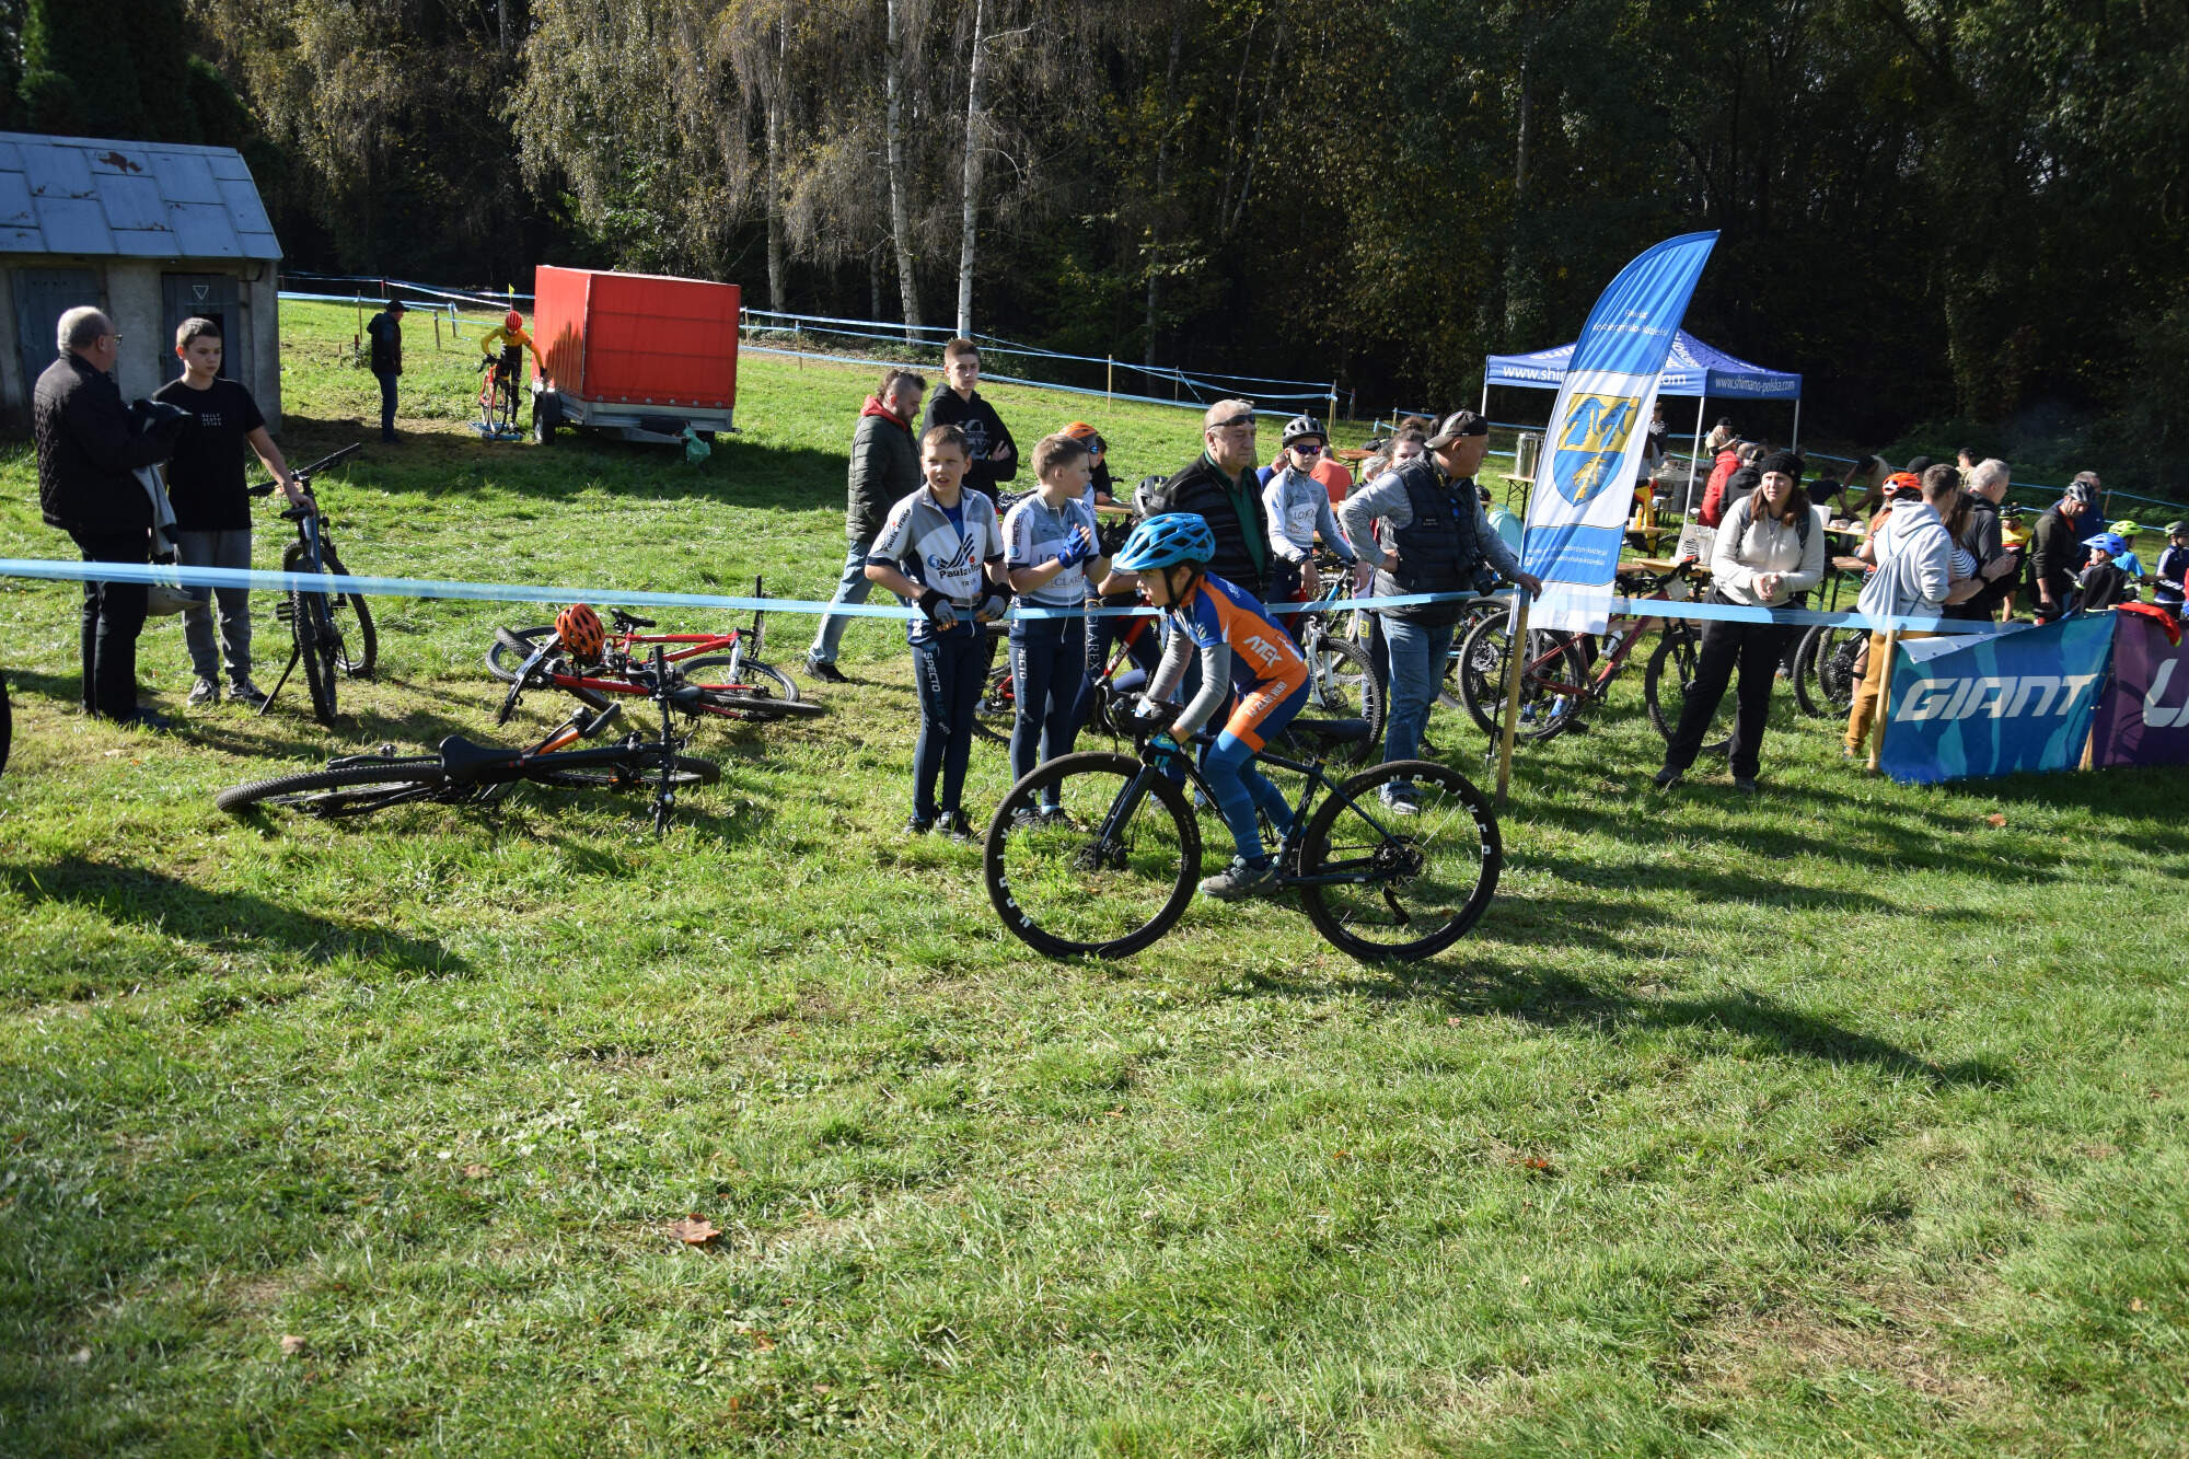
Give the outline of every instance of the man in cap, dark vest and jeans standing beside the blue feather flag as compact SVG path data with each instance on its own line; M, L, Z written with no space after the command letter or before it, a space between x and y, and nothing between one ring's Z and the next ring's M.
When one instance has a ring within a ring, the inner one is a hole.
M1482 469L1489 443L1491 423L1471 410L1458 410L1429 436L1423 456L1386 471L1337 508L1337 521L1362 565L1375 570L1379 598L1482 591L1486 567L1519 583L1530 596L1543 591L1543 583L1521 572L1519 559L1482 515L1475 471ZM1429 723L1429 703L1445 679L1460 602L1412 602L1379 616L1390 668L1383 758L1412 760ZM1405 813L1408 806L1392 802L1392 811Z

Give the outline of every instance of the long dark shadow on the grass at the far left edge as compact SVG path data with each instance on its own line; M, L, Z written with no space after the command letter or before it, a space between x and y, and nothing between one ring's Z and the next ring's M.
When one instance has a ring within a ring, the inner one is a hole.
M359 957L438 977L471 973L464 957L427 938L335 920L250 892L208 892L166 872L92 857L61 857L42 865L0 863L0 881L33 907L85 907L116 924L158 924L206 946L252 942L315 964Z

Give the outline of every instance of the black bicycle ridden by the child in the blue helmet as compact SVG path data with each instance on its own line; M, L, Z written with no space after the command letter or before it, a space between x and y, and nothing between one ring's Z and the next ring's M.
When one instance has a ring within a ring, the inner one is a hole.
M1038 953L1123 957L1184 916L1202 876L1189 786L1208 802L1215 795L1191 756L1151 738L1162 723L1138 721L1130 756L1086 751L1038 765L996 806L981 874L996 916ZM1292 727L1333 745L1368 734L1357 719ZM1305 778L1292 830L1270 846L1274 887L1296 889L1307 920L1340 951L1427 957L1489 907L1504 865L1497 815L1458 771L1390 760L1337 782L1322 756L1289 760L1265 749L1256 762ZM1386 806L1386 786L1410 786L1416 813ZM1044 804L1059 811L1044 815Z

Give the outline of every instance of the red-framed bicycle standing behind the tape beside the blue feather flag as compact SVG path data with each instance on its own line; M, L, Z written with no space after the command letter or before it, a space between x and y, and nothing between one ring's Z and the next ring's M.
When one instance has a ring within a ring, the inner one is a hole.
M1686 600L1701 581L1694 559L1672 563L1668 572L1629 570L1622 574L1629 596L1648 600ZM1694 666L1701 657L1703 633L1686 618L1664 618L1657 648L1651 653L1648 670L1642 675L1642 699L1648 719L1666 740L1679 727L1681 705L1688 701L1688 686L1694 683ZM1611 620L1596 668L1589 668L1580 633L1556 629L1528 629L1528 659L1521 664L1519 686L1519 738L1548 740L1580 723L1583 714L1602 703L1611 692L1611 681L1620 677L1633 657L1648 618L1629 616ZM1506 664L1513 633L1506 616L1478 618L1460 642L1453 683L1460 703L1484 734L1497 734L1504 716ZM1705 736L1705 754L1721 754L1731 736L1731 705L1725 705Z

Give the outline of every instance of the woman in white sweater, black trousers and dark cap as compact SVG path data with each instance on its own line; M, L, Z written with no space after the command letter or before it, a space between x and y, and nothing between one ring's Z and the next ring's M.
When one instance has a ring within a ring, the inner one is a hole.
M1799 607L1823 578L1823 528L1802 489L1806 462L1793 451L1762 460L1762 482L1734 502L1710 554L1712 602L1734 607ZM1740 668L1734 699L1729 767L1736 791L1756 791L1758 751L1771 716L1771 681L1793 629L1780 622L1705 622L1694 681L1679 710L1672 743L1664 749L1657 789L1670 789L1703 749L1710 721L1725 701L1725 686Z

